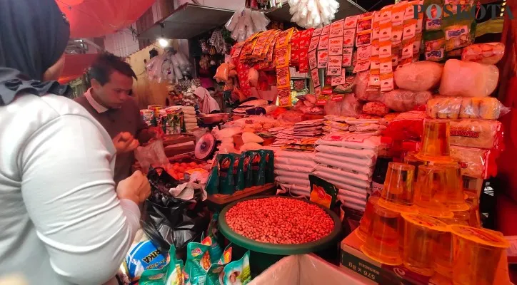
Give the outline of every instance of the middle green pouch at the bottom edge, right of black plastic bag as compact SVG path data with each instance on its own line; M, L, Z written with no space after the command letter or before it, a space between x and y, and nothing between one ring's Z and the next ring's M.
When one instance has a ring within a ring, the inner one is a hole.
M186 262L184 269L185 284L201 285L205 283L206 271L210 269L210 247L206 239L199 242L189 242L186 246Z

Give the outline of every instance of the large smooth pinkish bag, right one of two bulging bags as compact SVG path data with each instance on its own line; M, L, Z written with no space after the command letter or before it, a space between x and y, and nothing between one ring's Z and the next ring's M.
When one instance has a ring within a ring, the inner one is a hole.
M486 97L496 90L498 79L496 66L449 59L443 66L440 94Z

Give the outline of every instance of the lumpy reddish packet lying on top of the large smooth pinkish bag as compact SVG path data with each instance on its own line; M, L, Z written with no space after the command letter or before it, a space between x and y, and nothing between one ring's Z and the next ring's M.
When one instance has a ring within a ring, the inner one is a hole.
M496 64L501 61L503 56L503 43L476 43L463 48L461 60L473 61L476 63Z

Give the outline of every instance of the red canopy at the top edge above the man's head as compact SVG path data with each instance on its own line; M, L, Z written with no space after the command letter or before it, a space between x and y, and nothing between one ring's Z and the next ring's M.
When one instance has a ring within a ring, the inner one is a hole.
M95 38L131 26L156 0L56 0L71 38Z

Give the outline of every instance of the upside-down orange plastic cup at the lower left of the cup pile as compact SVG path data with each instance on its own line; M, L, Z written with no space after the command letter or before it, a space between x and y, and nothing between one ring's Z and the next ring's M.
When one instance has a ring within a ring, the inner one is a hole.
M380 200L379 200L380 201ZM375 205L366 242L361 251L369 258L388 265L402 264L400 250L401 214Z

